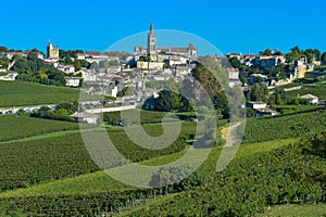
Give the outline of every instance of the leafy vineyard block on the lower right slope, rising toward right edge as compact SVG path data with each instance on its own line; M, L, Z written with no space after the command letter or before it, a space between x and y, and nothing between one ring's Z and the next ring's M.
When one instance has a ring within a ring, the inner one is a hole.
M128 214L188 216L196 208L202 216L251 216L274 205L325 203L325 158L305 153L305 142L233 161L206 184Z

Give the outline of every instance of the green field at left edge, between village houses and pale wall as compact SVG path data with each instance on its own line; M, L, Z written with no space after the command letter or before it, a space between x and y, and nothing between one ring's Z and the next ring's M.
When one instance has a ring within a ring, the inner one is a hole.
M0 81L0 107L78 101L77 89L25 81Z

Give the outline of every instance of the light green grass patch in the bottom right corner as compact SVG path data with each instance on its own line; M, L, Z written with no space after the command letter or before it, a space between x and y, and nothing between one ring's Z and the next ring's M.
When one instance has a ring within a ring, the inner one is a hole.
M326 204L274 206L259 217L322 217L326 216Z

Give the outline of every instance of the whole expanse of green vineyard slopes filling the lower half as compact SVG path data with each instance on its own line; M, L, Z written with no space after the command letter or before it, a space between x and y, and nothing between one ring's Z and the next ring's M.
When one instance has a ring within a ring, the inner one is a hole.
M151 115L142 119L152 123L143 128L160 137L163 128L153 123L162 114ZM225 170L215 170L222 151L215 146L195 174L159 189L136 189L100 171L79 133L3 143L0 215L22 210L30 216L188 216L196 209L202 216L251 216L268 206L325 203L325 158L304 151L316 142L299 138L304 136L302 129L309 129L306 133L325 130L325 120L323 111L248 119L243 145ZM177 140L163 150L138 146L123 127L110 127L108 135L127 158L164 165L187 151L195 127L195 122L183 122ZM89 133L97 138L97 131ZM322 136L314 138L325 142Z

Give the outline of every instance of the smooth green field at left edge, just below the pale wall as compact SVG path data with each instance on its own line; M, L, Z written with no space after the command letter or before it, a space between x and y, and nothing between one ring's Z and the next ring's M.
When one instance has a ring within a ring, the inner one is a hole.
M0 116L0 141L25 139L59 131L77 130L77 123L33 118L27 116Z

